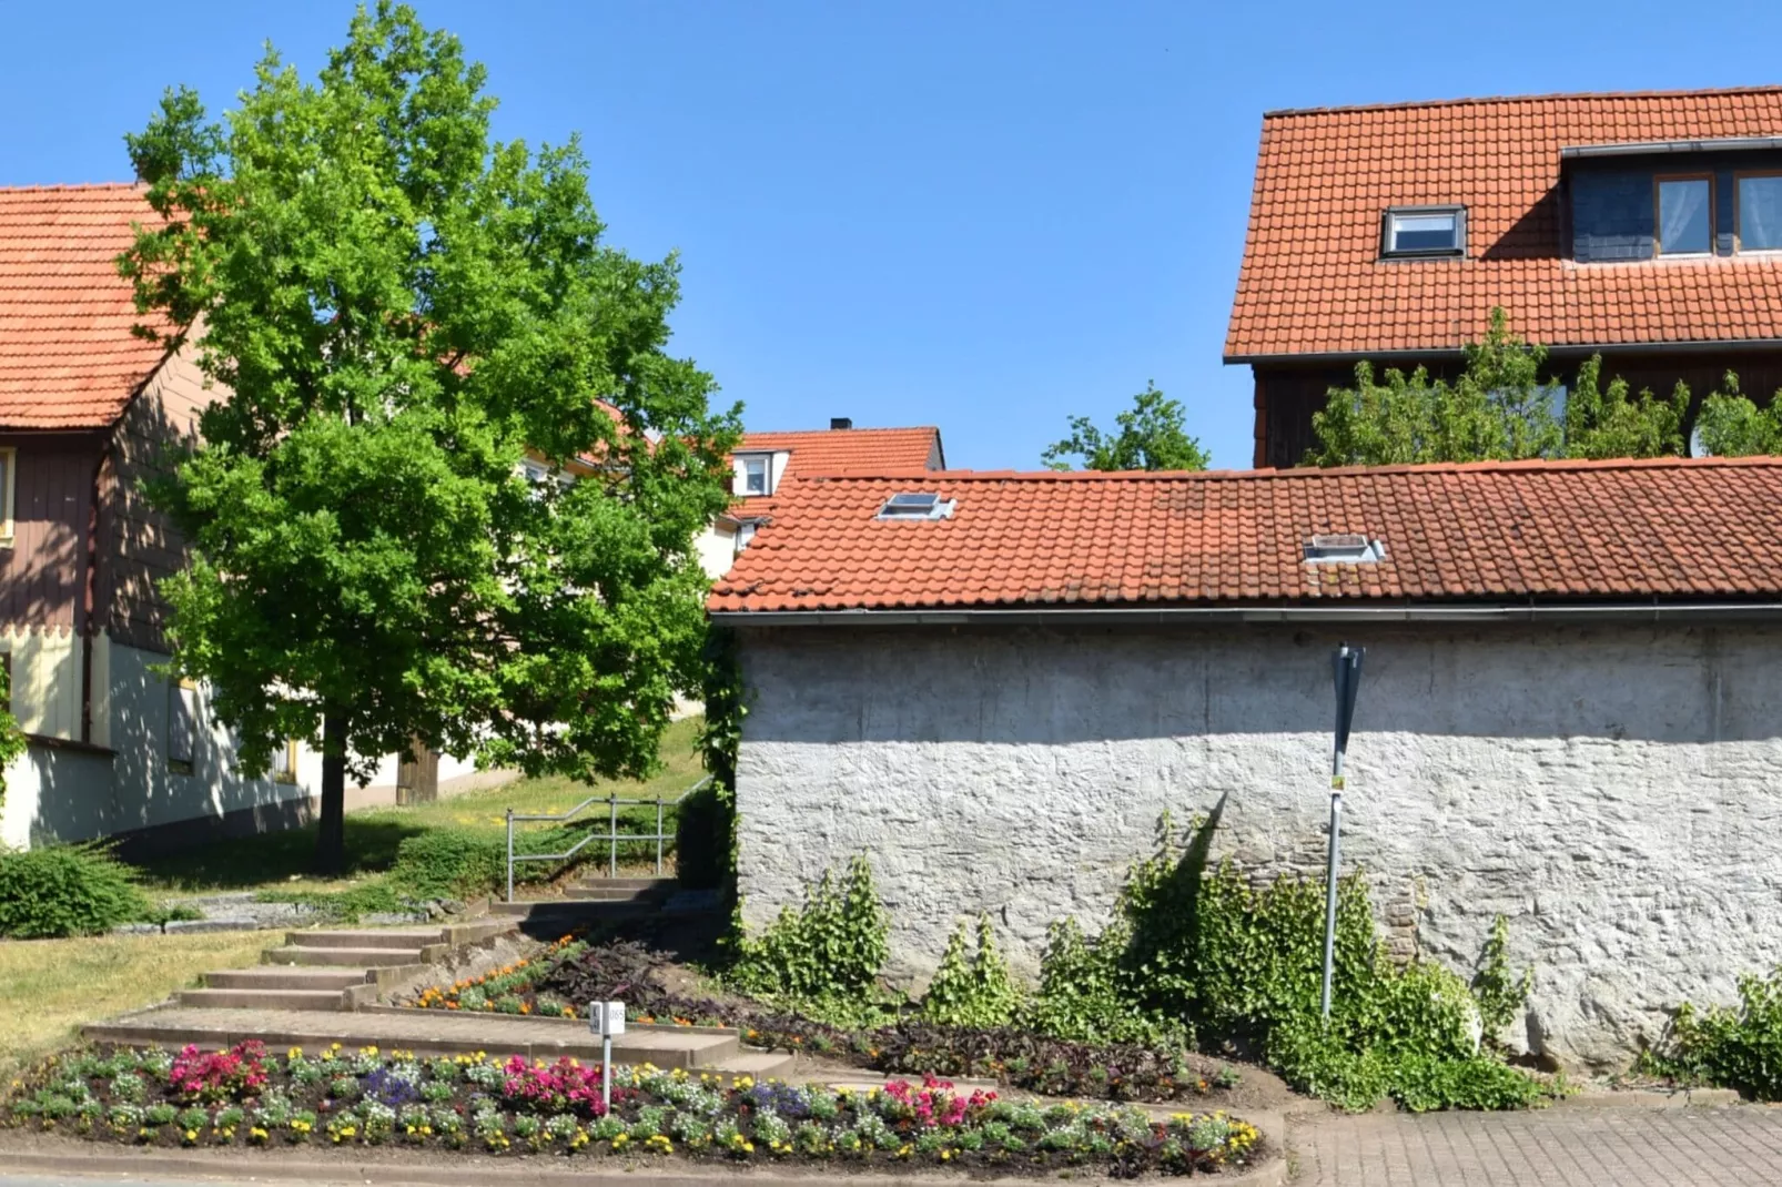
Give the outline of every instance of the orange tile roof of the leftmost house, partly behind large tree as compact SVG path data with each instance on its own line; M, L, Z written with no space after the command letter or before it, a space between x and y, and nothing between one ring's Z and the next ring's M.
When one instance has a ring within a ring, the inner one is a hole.
M135 185L0 189L0 428L105 428L160 364L116 264L151 217Z

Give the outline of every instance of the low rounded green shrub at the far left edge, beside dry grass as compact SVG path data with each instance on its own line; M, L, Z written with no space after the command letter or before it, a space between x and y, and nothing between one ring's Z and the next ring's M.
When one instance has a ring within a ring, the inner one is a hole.
M98 936L144 918L135 873L102 845L0 852L0 936Z

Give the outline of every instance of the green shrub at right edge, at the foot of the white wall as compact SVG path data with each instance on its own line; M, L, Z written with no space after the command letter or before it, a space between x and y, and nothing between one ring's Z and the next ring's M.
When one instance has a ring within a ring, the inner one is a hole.
M1737 1007L1677 1009L1668 1043L1641 1059L1645 1071L1689 1084L1782 1100L1782 968L1739 978Z

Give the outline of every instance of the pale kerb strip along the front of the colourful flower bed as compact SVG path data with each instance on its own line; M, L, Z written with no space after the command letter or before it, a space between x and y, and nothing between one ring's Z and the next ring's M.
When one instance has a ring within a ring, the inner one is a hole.
M78 1146L77 1141L62 1139L59 1144ZM845 1171L836 1175L834 1167L814 1166L807 1171L763 1169L757 1166L725 1167L699 1166L681 1169L658 1169L638 1164L613 1164L602 1171L556 1171L535 1166L536 1160L524 1160L519 1166L497 1166L492 1158L479 1155L449 1155L431 1166L405 1164L399 1158L365 1160L358 1151L340 1158L280 1158L264 1157L255 1151L244 1157L242 1151L216 1151L216 1155L175 1153L160 1150L135 1150L128 1155L86 1153L64 1150L39 1153L25 1150L7 1150L9 1142L0 1139L0 1153L5 1155L5 1171L37 1171L50 1175L185 1175L194 1178L217 1178L223 1182L298 1182L319 1183L369 1183L372 1187L463 1187L476 1182L485 1187L606 1187L613 1180L631 1183L649 1183L649 1187L709 1187L729 1180L747 1182L750 1187L813 1187L814 1183L845 1182L857 1187L941 1187L943 1183L980 1183L991 1182L998 1187L1055 1187L1057 1178L991 1178L980 1180L964 1173L920 1171L911 1175L880 1175L866 1171ZM392 1151L401 1153L401 1151ZM542 1160L542 1158L538 1158ZM511 1162L511 1160L504 1160ZM456 1166L453 1166L456 1164ZM249 1169L251 1167L251 1169ZM1221 1187L1281 1187L1287 1182L1285 1148L1274 1146L1269 1162L1240 1171L1237 1175L1203 1176ZM1085 1182L1103 1182L1105 1176L1083 1176Z

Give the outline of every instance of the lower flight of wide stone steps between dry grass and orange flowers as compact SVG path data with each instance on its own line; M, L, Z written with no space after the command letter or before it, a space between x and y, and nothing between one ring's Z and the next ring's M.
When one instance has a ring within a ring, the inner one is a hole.
M180 1005L233 1011L353 1011L380 986L405 980L453 948L513 930L497 918L428 929L285 932L260 968L205 973L203 989L187 989Z

